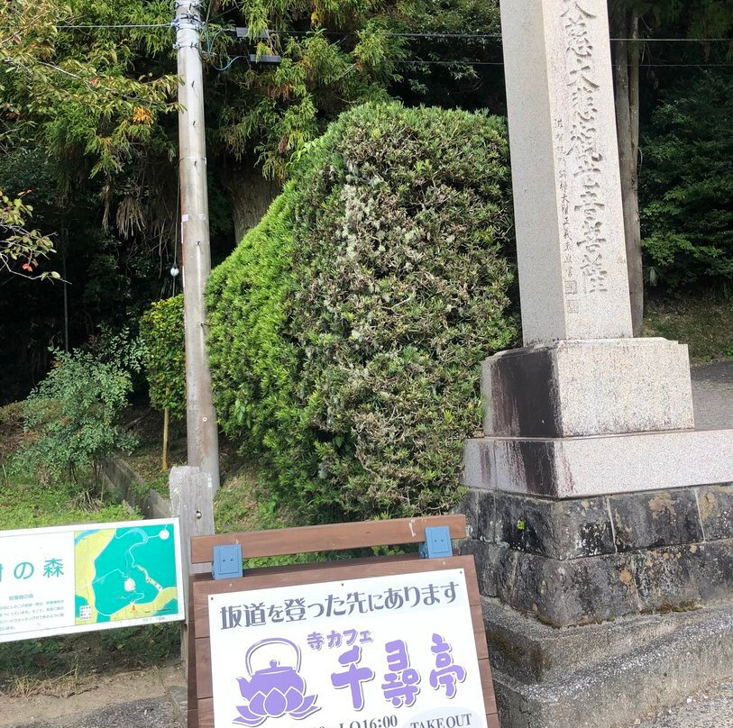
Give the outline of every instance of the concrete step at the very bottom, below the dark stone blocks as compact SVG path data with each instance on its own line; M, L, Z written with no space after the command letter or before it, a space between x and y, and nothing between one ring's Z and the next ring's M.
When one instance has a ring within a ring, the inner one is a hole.
M501 728L628 728L733 665L733 602L564 630L496 599L483 616Z

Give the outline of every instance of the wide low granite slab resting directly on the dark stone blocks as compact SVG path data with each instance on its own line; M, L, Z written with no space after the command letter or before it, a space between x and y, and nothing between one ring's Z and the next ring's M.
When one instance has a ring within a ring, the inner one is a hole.
M733 430L466 442L469 487L555 498L733 481Z

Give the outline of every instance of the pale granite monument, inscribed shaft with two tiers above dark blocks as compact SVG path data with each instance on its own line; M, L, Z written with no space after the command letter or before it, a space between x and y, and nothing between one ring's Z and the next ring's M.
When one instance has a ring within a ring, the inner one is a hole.
M605 0L502 0L523 349L483 365L468 485L577 497L733 478L686 345L634 339ZM726 457L728 456L728 457Z

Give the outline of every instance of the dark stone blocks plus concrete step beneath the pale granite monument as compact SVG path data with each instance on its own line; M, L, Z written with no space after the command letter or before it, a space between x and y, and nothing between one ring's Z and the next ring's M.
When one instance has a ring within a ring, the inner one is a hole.
M733 665L733 484L461 510L502 728L628 728Z

